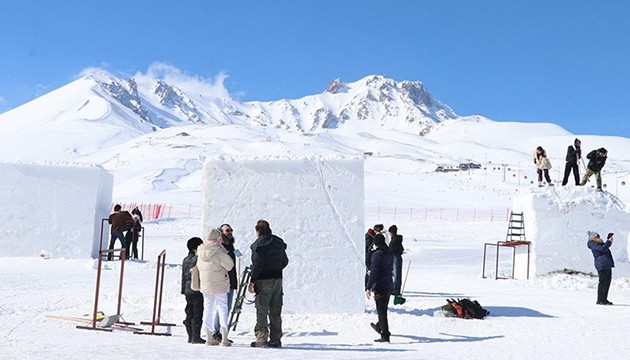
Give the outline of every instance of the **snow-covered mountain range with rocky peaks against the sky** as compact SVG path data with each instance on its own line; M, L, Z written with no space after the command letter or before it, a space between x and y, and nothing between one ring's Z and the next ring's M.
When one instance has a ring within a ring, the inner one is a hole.
M0 139L22 154L18 158L59 160L183 125L259 125L302 133L389 128L425 135L457 118L422 83L383 76L348 84L333 80L322 94L302 99L239 102L186 84L98 71L0 115ZM25 141L40 136L44 153ZM16 157L5 155L3 160Z

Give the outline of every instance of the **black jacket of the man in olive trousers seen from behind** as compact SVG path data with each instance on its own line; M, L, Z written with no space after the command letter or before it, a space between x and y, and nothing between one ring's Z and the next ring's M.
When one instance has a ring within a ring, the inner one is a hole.
M252 250L251 282L282 279L282 270L289 264L287 244L275 235L261 235L250 246Z

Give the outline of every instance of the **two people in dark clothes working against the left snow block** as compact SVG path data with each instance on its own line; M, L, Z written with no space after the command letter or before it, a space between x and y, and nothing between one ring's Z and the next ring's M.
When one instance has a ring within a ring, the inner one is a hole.
M142 212L134 207L131 213L122 210L120 204L114 206L114 212L109 215L107 222L110 226L110 241L107 260L111 261L116 240L120 241L121 248L125 249L126 259L138 258L138 238L142 232Z

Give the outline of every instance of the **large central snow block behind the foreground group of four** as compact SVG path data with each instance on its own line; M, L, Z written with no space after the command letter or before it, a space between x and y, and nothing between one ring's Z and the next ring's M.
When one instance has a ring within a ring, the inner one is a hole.
M284 310L361 313L363 159L219 159L205 164L203 233L232 225L244 266L259 219L287 243Z

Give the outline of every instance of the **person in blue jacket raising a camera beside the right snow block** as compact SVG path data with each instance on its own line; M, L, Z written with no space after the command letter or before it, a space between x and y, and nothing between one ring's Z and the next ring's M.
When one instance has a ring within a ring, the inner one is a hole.
M596 231L588 232L586 245L593 252L595 269L597 269L597 275L599 275L597 305L612 305L612 302L608 301L608 289L610 289L612 280L612 268L615 267L615 261L610 252L610 246L614 240L613 235L613 233L608 233L607 240L604 242Z

